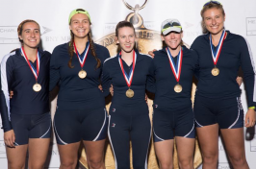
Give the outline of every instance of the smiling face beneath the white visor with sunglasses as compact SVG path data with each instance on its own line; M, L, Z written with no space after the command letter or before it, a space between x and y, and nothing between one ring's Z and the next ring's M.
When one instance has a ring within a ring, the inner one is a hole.
M170 32L166 36L162 35L161 37L170 49L175 50L181 45L183 33Z

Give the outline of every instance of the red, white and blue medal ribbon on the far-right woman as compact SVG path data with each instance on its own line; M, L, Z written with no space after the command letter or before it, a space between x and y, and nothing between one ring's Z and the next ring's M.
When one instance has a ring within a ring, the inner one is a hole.
M212 36L210 35L210 46L211 46L211 51L212 51L212 57L214 60L215 65L217 65L218 62L218 57L220 55L220 51L222 49L222 45L223 45L223 41L226 38L227 33L225 32L225 30L223 30L220 39L218 41L218 46L217 46L217 50L214 50L214 46L213 46L213 42L212 42Z

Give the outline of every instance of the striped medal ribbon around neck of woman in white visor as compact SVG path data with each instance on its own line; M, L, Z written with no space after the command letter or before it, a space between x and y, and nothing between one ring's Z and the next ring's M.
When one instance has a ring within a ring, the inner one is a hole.
M173 60L168 47L166 47L166 52L167 52L167 56L168 56L168 60L169 60L169 64L170 64L170 68L172 70L172 73L177 81L177 83L179 83L180 81L180 73L181 73L181 65L182 65L182 58L183 58L183 51L182 51L182 47L180 48L180 52L177 56L177 64L175 64L175 61Z

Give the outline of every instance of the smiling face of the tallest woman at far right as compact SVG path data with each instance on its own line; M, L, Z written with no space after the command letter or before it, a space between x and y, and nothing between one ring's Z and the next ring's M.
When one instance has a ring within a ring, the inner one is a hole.
M203 12L203 22L212 35L221 34L224 28L225 15L220 9L212 8Z

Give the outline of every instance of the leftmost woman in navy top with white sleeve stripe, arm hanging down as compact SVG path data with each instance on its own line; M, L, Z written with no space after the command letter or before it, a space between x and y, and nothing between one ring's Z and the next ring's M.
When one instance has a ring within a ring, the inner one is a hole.
M1 62L1 116L8 168L44 168L51 136L49 113L50 53L38 49L40 28L24 20L17 28L21 48ZM13 91L10 100L9 93Z

